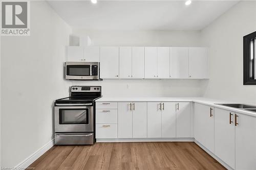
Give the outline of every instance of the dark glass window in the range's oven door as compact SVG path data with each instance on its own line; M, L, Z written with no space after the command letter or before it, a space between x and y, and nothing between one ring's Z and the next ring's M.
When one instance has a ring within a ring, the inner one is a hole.
M89 109L59 109L59 124L89 124Z

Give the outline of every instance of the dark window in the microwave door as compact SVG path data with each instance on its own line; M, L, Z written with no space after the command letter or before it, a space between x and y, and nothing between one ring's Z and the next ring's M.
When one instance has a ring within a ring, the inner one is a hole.
M90 65L67 65L68 76L90 76Z

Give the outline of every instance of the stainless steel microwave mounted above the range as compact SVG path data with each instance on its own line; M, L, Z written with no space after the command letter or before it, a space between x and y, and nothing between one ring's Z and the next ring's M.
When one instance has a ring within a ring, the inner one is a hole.
M67 80L99 80L99 62L66 62Z

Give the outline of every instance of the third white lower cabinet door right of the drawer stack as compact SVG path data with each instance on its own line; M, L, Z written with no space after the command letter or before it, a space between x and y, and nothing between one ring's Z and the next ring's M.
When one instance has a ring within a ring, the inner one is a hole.
M147 137L162 137L162 114L160 110L160 102L147 102Z

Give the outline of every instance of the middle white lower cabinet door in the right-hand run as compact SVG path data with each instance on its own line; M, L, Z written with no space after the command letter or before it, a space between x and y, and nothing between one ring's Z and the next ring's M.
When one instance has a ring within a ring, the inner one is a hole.
M230 122L231 117L231 122ZM215 155L234 168L234 112L215 108ZM245 143L244 143L245 144Z

